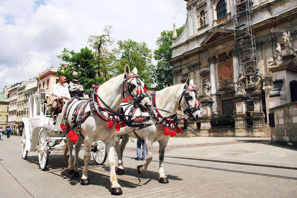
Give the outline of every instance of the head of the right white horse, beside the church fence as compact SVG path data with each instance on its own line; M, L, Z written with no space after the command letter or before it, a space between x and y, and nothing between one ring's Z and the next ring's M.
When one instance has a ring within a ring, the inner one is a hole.
M197 121L201 117L197 88L190 78L186 80L179 105L183 109L183 113L189 116L190 120Z

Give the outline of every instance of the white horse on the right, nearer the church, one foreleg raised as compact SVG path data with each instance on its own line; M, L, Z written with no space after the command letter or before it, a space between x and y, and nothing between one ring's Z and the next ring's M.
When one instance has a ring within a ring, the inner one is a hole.
M155 98L155 100L154 100ZM196 86L193 83L193 80L187 78L186 85L185 84L177 84L174 86L170 86L167 88L162 89L161 91L156 92L156 96L152 98L152 107L157 107L158 109L166 110L161 111L157 110L157 114L161 114L163 117L170 117L174 118L174 114L168 112L176 112L179 107L182 108L183 112L190 117L190 120L197 121L200 118L200 108L199 108L199 97L196 92ZM130 107L131 108L131 107ZM136 110L137 111L137 110ZM129 112L127 110L126 112ZM130 113L130 112L129 112ZM140 112L133 112L134 115L140 115ZM146 116L148 114L142 113L141 116ZM161 118L161 117L159 117ZM136 119L137 120L137 119ZM149 122L156 121L156 119L151 118ZM163 122L163 121L162 121ZM161 123L162 123L161 122ZM166 130L164 131L164 126L162 124L151 125L146 128L142 128L140 130L135 131L134 133L129 133L133 130L131 127L124 127L121 128L119 132L117 132L117 136L123 135L121 144L119 144L119 138L116 143L116 152L118 155L118 174L124 174L123 168L123 151L125 146L129 140L129 136L133 138L140 138L145 141L145 148L146 148L146 162L143 165L137 166L137 172L139 174L143 173L147 170L149 163L152 161L153 158L153 143L158 141L159 142L159 182L160 183L168 183L168 179L164 174L164 153L165 148L169 140L169 135ZM169 123L172 128L174 128L174 122ZM166 126L166 123L165 123ZM176 125L175 125L176 127ZM179 131L178 131L179 132ZM124 135L128 134L128 135ZM170 136L175 136L175 131L170 133Z

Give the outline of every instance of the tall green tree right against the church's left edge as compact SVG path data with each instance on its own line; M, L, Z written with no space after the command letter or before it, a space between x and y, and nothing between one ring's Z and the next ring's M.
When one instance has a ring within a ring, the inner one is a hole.
M184 25L176 29L177 35L179 35L184 28ZM157 83L157 89L165 88L173 84L172 77L172 65L167 61L172 57L171 45L172 45L173 31L164 30L161 32L161 37L156 41L159 46L158 49L154 50L154 58L157 60L157 66L154 68L154 78Z

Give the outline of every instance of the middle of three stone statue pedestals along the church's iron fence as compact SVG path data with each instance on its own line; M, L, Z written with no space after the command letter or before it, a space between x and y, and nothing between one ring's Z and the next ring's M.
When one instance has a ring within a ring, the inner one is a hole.
M235 119L235 137L247 137L252 136L248 135L247 132L247 107L246 107L247 97L243 94L235 96L236 102L236 114Z

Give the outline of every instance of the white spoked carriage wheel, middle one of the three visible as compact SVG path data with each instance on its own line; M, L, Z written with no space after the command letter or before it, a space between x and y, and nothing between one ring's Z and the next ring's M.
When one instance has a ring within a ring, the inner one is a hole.
M41 170L45 170L49 163L49 143L46 140L46 134L41 132L38 142L38 160Z

